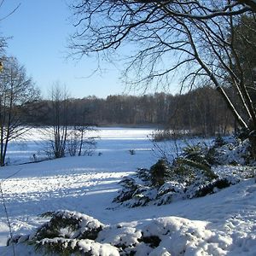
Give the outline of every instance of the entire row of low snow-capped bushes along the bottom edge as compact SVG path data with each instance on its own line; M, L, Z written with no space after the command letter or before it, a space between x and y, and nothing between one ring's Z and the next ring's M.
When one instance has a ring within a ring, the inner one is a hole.
M59 211L30 236L9 241L48 255L195 255L224 253L230 239L207 230L207 222L155 218L147 222L104 225L79 212Z

